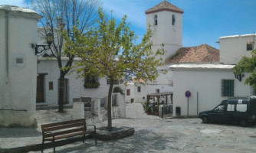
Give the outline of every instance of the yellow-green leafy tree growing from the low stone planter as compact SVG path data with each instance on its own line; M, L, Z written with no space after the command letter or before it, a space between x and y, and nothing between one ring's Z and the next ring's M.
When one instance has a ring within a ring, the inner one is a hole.
M74 27L73 33L76 41L65 38L65 51L81 58L76 62L77 73L92 73L99 77L110 79L108 91L107 118L108 130L112 129L111 120L111 96L114 80L120 80L127 75L136 75L136 79L146 81L156 80L158 77L157 66L162 65L160 55L164 54L162 47L153 54L153 43L150 38L153 36L150 28L147 30L140 44L134 44L137 37L130 30L130 24L126 23L126 15L119 24L114 19L107 20L103 11L99 8L100 20L98 26L88 29L86 34ZM84 72L84 67L90 67Z

